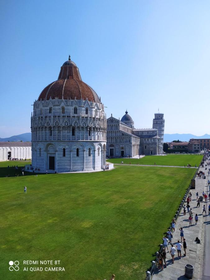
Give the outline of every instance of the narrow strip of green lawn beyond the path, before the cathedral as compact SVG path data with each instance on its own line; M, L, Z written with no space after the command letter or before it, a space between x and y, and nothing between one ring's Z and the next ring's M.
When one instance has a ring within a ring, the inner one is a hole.
M166 156L144 156L141 159L136 158L112 158L107 161L112 163L124 164L139 164L139 165L170 165L170 166L184 166L191 164L191 166L197 166L200 164L202 155L166 155Z

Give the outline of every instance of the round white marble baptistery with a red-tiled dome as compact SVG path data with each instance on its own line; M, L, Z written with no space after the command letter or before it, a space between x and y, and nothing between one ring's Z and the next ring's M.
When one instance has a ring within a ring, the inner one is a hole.
M58 80L40 93L31 115L32 168L49 172L100 171L105 166L106 116L77 65L63 63Z

